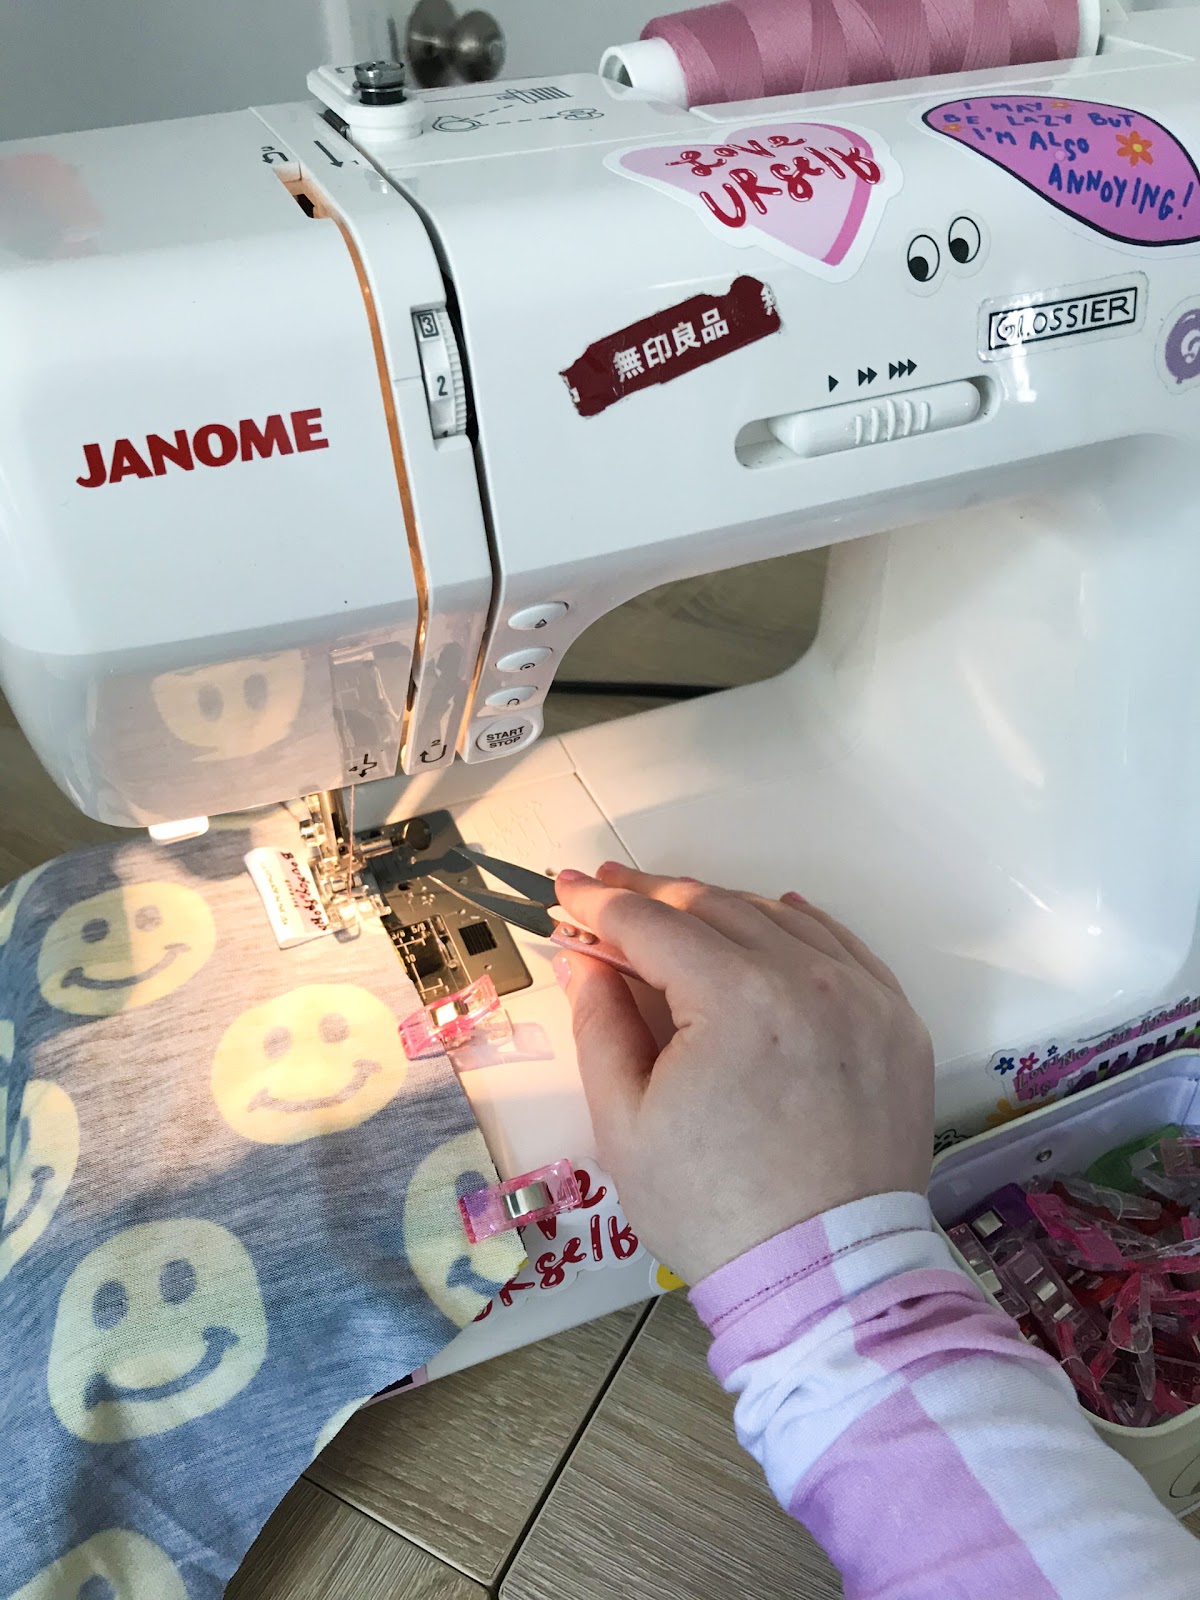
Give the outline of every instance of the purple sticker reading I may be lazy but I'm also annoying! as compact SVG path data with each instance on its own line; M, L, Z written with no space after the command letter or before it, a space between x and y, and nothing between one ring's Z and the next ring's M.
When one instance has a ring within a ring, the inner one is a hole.
M1200 173L1154 117L1099 101L965 99L934 106L925 123L1106 238L1200 240Z

